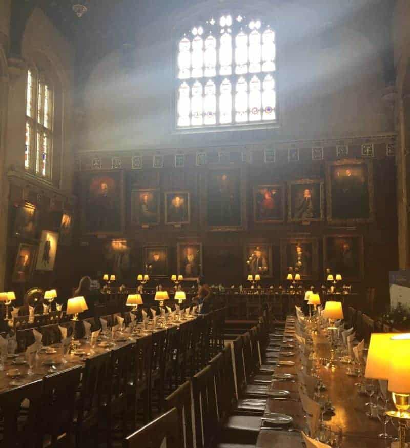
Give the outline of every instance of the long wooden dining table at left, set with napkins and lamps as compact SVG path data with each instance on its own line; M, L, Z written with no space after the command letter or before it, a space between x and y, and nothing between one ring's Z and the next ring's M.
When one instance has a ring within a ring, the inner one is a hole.
M193 319L196 319L196 317L190 318L189 320ZM45 351L47 347L44 346L43 349L39 351L38 355L36 355L35 363L32 368L32 375L28 375L29 366L25 360L25 353L18 353L17 358L14 356L8 356L4 362L4 370L0 371L0 394L17 386L38 381L48 374L62 372L77 365L84 366L87 358L97 356L98 354L111 351L129 343L135 343L138 339L148 337L154 331L166 330L171 327L179 328L179 326L186 321L187 320L180 322L172 321L168 325L163 325L161 327L158 327L157 325L155 330L152 327L152 321L150 321L147 332L144 331L142 322L139 322L135 326L137 330L136 332L116 332L114 338L107 337L106 335L102 335L100 333L95 347L93 348L90 345L90 341L85 338L75 340L75 349L81 352L77 352L78 354L67 354L65 358L67 363L61 362L61 358L63 358L63 348L60 343L48 346L50 348L54 348L55 353L47 353ZM107 342L108 345L106 345ZM24 362L21 364L16 364L16 360L24 360ZM11 371L16 369L20 372L20 374L18 376L10 376Z

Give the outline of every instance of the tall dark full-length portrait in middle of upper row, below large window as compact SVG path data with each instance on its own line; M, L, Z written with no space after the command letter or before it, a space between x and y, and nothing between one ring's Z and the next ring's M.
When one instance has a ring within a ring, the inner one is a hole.
M212 170L209 172L207 209L209 226L241 226L241 179L239 170Z

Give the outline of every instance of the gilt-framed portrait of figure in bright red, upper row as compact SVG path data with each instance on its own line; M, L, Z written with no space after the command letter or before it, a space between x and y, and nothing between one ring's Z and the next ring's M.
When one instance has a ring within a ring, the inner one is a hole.
M278 184L254 186L253 205L255 222L283 222L284 186Z

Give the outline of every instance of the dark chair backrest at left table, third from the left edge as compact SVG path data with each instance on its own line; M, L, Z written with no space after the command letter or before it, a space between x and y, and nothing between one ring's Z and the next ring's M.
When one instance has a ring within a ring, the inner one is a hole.
M78 420L92 408L100 408L109 391L110 353L101 353L86 359L79 401Z

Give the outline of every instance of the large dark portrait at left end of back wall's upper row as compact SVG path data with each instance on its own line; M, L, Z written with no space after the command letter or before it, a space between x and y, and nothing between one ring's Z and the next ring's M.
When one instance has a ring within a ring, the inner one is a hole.
M124 222L122 172L92 173L83 179L84 232L120 232Z

